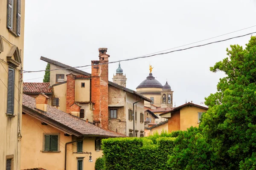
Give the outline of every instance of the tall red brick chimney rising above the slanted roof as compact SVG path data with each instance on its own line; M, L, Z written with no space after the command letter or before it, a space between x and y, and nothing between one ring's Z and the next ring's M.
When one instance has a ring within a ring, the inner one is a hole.
M93 103L93 121L108 129L108 48L99 48L99 60L91 61L91 100ZM104 64L106 63L106 64ZM99 64L99 65L98 65Z

